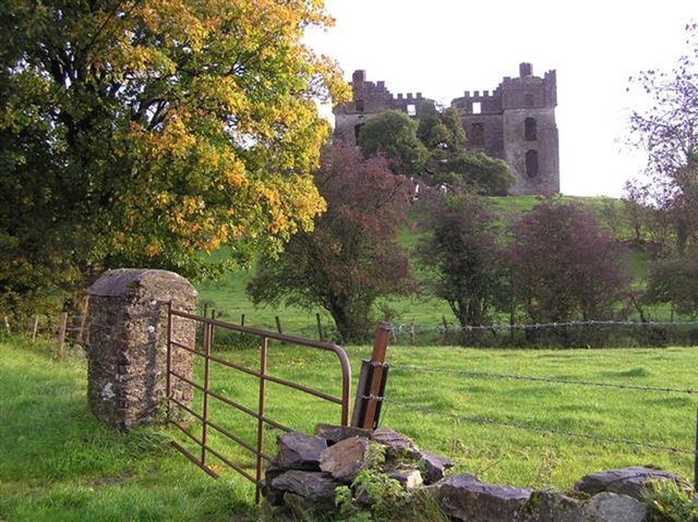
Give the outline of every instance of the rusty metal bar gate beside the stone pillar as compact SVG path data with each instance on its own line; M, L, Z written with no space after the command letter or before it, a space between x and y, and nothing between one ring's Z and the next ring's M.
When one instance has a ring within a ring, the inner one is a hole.
M197 331L201 335L201 341L197 342L196 345L184 345L173 339L173 321L182 320L195 323ZM240 336L241 339L248 339L248 342L250 339L258 342L256 368L248 367L240 364L240 362L232 361L230 352L226 353L225 356L219 352L214 352L214 338L219 336L222 331L233 332L237 336ZM308 347L314 350L334 353L337 357L338 373L340 374L341 379L340 396L336 397L328 394L322 390L269 375L267 373L267 361L269 357L270 341L275 341L275 344L276 342L282 343L284 347ZM194 360L198 359L201 369L197 373L203 375L200 377L188 377L173 372L171 369L170 361L172 357L178 356L178 352L179 355L183 352L188 352L193 355ZM215 372L215 367L229 368L239 373L239 375L251 376L255 379L258 386L256 406L250 408L249 405L244 405L234 397L229 397L224 391L214 389L212 387L212 374ZM346 352L337 344L231 325L220 320L179 312L170 307L168 317L167 374L168 420L179 428L179 430L185 436L185 440L188 440L188 442L195 446L194 451L197 454L185 448L183 444L176 441L173 442L174 446L192 462L213 477L218 477L218 473L216 471L216 465L210 462L212 459L216 462L221 462L222 465L229 466L246 477L249 481L253 482L256 486L255 499L257 502L260 501L264 464L270 460L270 456L264 450L265 430L268 428L276 428L281 432L291 430L289 426L276 422L267 415L266 398L268 383L275 383L285 389L293 389L303 394L310 394L317 398L318 400L337 404L339 410L337 421L342 426L349 424L351 369ZM192 387L196 393L196 400L194 403L186 404L184 403L185 401L172 397L170 390L176 383L178 385L183 383ZM214 401L230 406L245 417L252 417L254 420L253 422L256 423L256 440L254 442L245 440L239 434L232 433L230 427L224 427L219 420L212 418L210 405ZM216 434L216 437L224 437L234 442L236 447L243 448L246 452L251 453L254 457L254 473L249 471L249 466L245 469L245 466L241 465L239 462L233 462L228 456L224 454L220 449L212 447L209 441L212 434Z

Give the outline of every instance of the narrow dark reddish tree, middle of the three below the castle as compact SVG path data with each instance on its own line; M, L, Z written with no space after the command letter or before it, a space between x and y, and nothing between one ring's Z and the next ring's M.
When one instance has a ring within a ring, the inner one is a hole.
M461 327L484 325L502 290L494 215L478 196L432 194L417 258L430 292L448 303Z

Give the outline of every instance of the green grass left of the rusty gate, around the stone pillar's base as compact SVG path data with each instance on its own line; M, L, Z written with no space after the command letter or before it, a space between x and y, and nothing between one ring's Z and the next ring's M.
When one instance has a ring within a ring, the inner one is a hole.
M213 481L171 448L169 432L97 422L85 361L59 363L52 347L0 341L0 520L256 520L249 483Z

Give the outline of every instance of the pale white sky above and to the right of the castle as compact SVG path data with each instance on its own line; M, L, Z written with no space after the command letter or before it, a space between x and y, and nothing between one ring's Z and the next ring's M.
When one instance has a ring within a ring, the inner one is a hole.
M695 0L325 0L336 20L306 41L394 94L450 105L466 90L494 90L519 63L557 72L561 192L617 197L645 155L626 145L628 117L647 104L639 72L671 71L687 52ZM635 93L638 93L637 95Z

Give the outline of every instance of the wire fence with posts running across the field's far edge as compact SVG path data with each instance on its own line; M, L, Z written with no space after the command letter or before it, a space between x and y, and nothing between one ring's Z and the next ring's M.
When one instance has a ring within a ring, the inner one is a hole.
M221 317L213 308L202 306L204 317ZM268 315L268 314L267 314ZM224 315L225 317L225 315ZM321 341L341 342L330 318L315 313L306 321L290 320L281 315L273 317L241 314L233 323L261 329L294 335ZM63 324L64 321L64 324ZM64 325L64 326L63 326ZM32 339L37 336L61 337L80 344L86 330L85 316L61 313L56 316L36 315L26 324L13 325L4 320L4 332L22 331ZM1 328L1 327L0 327ZM698 345L698 320L565 320L557 323L510 323L460 326L445 317L440 323L393 323L390 343L429 347L458 344L482 348L636 348ZM60 344L60 342L59 342ZM70 342L69 342L70 345Z

